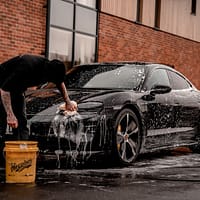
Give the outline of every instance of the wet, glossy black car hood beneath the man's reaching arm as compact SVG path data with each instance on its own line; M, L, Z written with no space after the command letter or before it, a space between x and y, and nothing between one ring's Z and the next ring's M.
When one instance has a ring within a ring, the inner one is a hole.
M74 100L79 105L87 102L98 102L99 105L106 103L111 104L113 95L123 92L122 90L68 90L68 94L71 100ZM105 102L107 100L107 102ZM41 116L45 121L45 118L49 120L51 115L55 115L57 108L63 103L63 98L58 90L38 90L26 95L27 104L27 116L28 119L35 115ZM90 104L94 106L94 104ZM97 104L95 105L97 106ZM88 107L88 105L87 105Z

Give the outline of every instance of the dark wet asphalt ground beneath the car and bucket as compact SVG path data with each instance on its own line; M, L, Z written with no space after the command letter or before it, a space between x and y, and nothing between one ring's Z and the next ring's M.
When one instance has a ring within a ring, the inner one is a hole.
M5 183L0 200L199 200L200 155L187 149L142 155L124 168L37 168L35 183Z

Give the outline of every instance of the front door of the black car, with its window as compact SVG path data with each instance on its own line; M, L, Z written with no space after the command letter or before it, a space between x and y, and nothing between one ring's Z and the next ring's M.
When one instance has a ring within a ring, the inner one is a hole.
M171 92L151 95L156 86L170 87L170 81L165 69L154 69L145 81L145 90L150 93L147 98L147 126L146 148L158 148L170 145L174 132L174 98Z

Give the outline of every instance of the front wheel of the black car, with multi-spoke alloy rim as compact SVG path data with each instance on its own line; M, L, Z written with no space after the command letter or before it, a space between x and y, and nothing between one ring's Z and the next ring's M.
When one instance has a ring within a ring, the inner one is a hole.
M138 156L141 144L140 124L131 109L122 110L116 119L114 154L120 164L129 165Z

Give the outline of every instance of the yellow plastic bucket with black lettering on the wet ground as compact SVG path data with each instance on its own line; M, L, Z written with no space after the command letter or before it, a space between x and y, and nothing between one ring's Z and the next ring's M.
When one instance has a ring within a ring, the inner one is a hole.
M6 141L6 183L33 183L36 176L37 142Z

